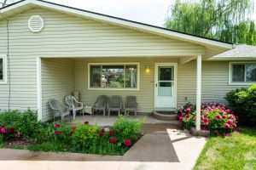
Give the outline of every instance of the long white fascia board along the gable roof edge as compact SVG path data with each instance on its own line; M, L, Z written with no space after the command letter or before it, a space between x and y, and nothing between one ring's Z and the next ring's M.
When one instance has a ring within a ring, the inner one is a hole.
M83 17L91 19L91 20L99 20L99 21L107 22L107 23L110 23L113 25L124 26L124 27L128 27L131 29L136 29L138 31L145 31L145 32L153 33L153 34L160 35L160 36L177 38L177 39L180 39L183 41L195 42L195 43L200 43L203 45L207 44L207 45L220 47L220 48L227 48L227 49L233 48L233 44L230 44L230 43L218 42L218 41L210 40L207 38L196 37L196 36L176 32L176 31L168 31L168 30L160 29L160 28L157 28L154 26L147 26L147 25L143 25L140 23L131 22L129 20L120 20L118 18L113 18L113 17L109 17L106 15L102 15L102 14L90 13L90 12L78 10L76 8L67 8L67 7L63 7L60 5L36 1L36 0L26 0L21 3L16 3L14 5L11 5L10 7L1 9L0 12L7 13L11 9L19 8L20 6L24 6L29 3L32 3L35 5L41 6L41 7L45 7L45 8L52 8L54 10L61 10L61 11L71 13L71 14L78 14L79 16L83 16Z

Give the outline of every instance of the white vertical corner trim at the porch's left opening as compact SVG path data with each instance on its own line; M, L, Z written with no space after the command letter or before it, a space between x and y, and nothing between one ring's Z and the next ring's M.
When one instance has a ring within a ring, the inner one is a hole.
M38 121L43 119L42 108L42 73L41 58L37 57L37 105L38 105Z

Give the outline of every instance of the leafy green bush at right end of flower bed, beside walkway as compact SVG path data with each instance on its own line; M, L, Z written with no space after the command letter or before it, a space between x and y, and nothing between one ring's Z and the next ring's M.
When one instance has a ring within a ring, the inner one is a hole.
M113 130L120 142L125 141L125 139L136 141L141 134L142 126L143 122L138 120L128 121L126 116L119 116L119 119L113 123Z

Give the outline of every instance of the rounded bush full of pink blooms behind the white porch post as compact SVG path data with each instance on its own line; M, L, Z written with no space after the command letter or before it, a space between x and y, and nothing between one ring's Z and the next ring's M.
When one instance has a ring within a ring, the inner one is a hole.
M196 113L193 108L193 105L185 105L177 115L186 129L195 127ZM211 133L224 133L237 127L238 116L235 116L230 109L226 109L225 105L202 103L200 119L202 129L210 130Z

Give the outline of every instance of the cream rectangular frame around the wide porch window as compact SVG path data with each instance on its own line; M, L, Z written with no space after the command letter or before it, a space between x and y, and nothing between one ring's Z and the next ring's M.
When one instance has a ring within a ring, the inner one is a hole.
M90 65L137 65L137 88L90 88ZM140 63L88 63L88 90L132 90L140 89Z

